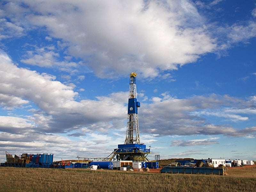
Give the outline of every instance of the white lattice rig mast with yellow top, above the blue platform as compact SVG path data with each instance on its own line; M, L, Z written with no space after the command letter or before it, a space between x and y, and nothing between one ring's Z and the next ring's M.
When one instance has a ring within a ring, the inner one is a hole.
M135 72L130 74L127 130L124 144L140 144L138 120L138 108L140 107L140 102L137 101L136 76L137 74Z

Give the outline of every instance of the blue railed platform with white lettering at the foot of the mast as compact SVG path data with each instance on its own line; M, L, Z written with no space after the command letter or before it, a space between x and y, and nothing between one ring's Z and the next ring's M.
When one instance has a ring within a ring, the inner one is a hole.
M118 149L114 149L115 153L150 153L150 149L146 149L143 144L120 144Z

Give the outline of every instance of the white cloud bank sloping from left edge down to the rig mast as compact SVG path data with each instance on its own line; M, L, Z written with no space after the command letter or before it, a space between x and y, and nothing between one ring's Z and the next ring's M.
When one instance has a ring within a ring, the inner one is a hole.
M78 93L73 91L73 87L55 81L55 76L18 68L6 55L0 57L0 62L0 92L16 101L4 103L3 97L2 105L9 104L8 107L12 108L26 105L28 101L36 104L39 110L30 108L29 111L34 114L27 119L35 122L39 130L64 132L66 129L86 125L109 129L116 120L125 116L124 101L126 103L128 93L113 93L108 97L99 96L95 100L78 102L75 100ZM111 113L110 108L114 109ZM109 119L112 124L104 126L103 122L108 122Z

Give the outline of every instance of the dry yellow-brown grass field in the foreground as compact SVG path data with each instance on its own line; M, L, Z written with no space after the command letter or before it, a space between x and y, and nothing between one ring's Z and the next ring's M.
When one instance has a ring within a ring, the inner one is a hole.
M0 191L256 191L256 167L227 176L0 167Z

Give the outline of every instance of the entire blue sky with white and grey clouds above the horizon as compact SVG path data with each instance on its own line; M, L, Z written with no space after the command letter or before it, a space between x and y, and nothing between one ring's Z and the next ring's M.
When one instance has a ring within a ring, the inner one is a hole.
M0 162L110 155L134 71L150 160L256 160L255 53L256 0L2 0Z

